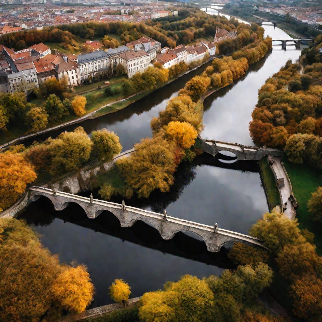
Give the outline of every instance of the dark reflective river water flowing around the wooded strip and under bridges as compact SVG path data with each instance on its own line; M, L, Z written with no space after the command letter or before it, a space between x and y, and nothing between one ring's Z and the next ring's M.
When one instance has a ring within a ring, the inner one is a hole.
M265 35L273 39L289 39L273 25L264 28ZM202 136L252 144L248 123L258 89L288 59L294 61L299 54L295 46L288 47L287 51L274 46L272 52L252 65L240 80L208 97L204 102ZM140 138L151 136L151 118L166 107L166 102L177 95L188 79L204 68L122 111L63 130L80 125L88 133L107 128L115 131L123 149L128 149ZM51 132L51 135L55 137L59 133ZM209 225L217 222L221 228L247 233L251 224L268 211L258 164L248 161L223 163L220 158L224 159L223 156L203 155L192 165L182 164L169 193L153 193L149 199L132 198L126 203L154 211L166 209L171 216ZM96 195L96 191L93 193ZM64 211L55 212L50 201L40 198L28 206L21 217L42 235L44 246L52 253L58 253L62 262L76 260L87 265L96 289L91 307L111 303L108 287L115 278L126 280L132 287L131 296L135 297L162 288L166 281L177 280L183 274L201 278L221 274L224 268L232 267L225 248L218 253L209 253L202 241L184 233L164 241L156 230L142 222L131 228L121 228L110 213L89 220L77 205L71 204Z

